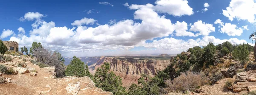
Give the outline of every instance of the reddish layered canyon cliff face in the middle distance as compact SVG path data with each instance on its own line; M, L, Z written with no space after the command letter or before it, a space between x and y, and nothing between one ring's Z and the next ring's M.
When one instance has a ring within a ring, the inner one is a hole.
M123 59L102 56L99 61L89 66L90 70L92 70L91 73L95 73L96 69L101 67L104 62L111 64L111 71L121 76L123 86L128 88L131 84L137 84L141 74L154 76L158 71L164 70L170 64L170 59Z

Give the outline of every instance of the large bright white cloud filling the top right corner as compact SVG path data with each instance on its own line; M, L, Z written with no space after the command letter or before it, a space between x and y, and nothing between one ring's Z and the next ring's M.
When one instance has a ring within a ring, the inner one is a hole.
M247 20L255 22L256 3L254 0L231 0L226 10L222 10L222 14L229 20Z

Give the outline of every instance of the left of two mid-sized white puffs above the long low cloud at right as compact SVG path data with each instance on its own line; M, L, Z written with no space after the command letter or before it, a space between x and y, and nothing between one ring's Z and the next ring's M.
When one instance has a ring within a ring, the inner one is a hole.
M191 25L190 31L199 32L195 34L195 36L208 36L209 33L215 31L215 27L213 27L212 24L208 24L203 22L202 20L198 20L197 22L194 22L193 25Z

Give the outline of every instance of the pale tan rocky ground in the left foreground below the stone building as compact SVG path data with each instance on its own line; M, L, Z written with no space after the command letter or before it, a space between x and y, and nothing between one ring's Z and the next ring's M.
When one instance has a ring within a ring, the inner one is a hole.
M30 62L31 58L25 56L21 59L18 56L12 58L12 61L0 62L7 68L13 67L17 73L0 74L6 78L6 82L0 84L1 95L112 95L111 92L95 87L89 77L56 78L54 67L40 68ZM26 63L26 67L17 67L18 63Z

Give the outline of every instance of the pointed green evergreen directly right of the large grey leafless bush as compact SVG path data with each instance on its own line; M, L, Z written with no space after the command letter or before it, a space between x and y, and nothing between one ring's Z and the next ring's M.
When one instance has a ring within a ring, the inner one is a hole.
M76 56L73 56L70 64L67 65L67 69L65 70L65 75L73 76L77 75L79 77L85 76L85 64Z

